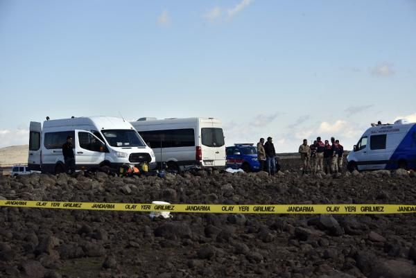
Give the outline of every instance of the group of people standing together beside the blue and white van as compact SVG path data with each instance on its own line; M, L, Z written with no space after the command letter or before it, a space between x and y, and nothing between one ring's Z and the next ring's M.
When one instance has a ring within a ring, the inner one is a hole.
M323 143L321 137L317 137L311 146L308 145L308 140L304 139L299 153L302 159L302 173L311 171L315 174L318 167L327 174L338 173L343 168L344 147L334 137L331 137L331 144L328 140Z

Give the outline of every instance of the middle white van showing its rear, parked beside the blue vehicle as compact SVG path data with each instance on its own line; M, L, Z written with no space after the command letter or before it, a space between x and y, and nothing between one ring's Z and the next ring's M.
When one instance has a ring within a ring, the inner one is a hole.
M214 118L141 118L132 125L153 149L156 162L183 171L188 168L225 168L221 122Z

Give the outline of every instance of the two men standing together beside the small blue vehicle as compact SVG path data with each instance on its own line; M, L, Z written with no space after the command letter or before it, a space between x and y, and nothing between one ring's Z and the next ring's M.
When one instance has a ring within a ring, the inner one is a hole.
M267 171L269 175L275 175L279 171L276 167L276 150L272 141L272 137L267 137L266 143L264 143L264 138L260 138L257 143L257 160L260 163L260 171Z

